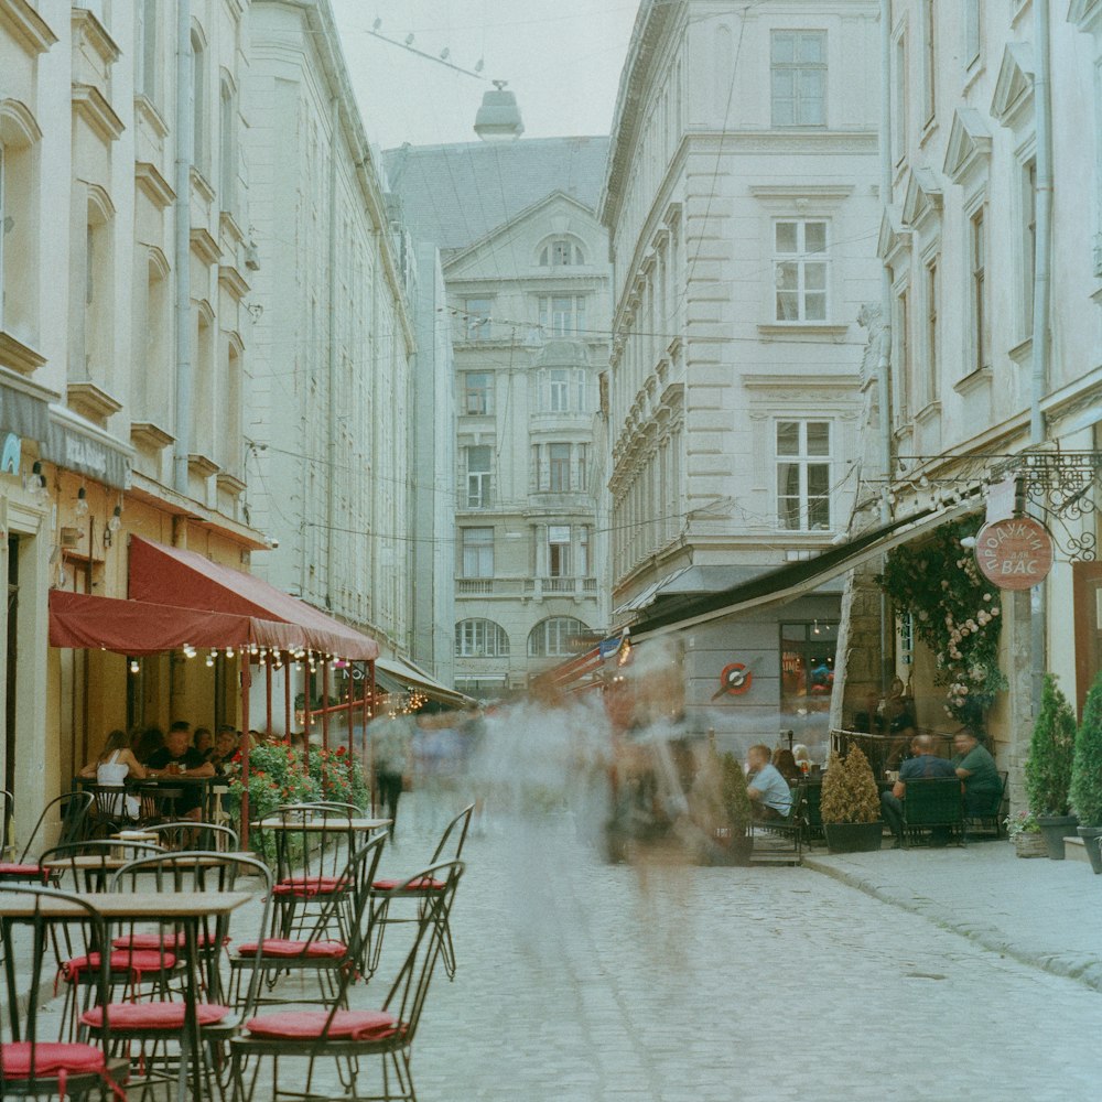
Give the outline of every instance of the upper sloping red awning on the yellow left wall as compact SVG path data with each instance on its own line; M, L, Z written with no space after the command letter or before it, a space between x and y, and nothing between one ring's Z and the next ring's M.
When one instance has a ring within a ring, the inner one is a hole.
M253 623L291 625L295 641L278 645L282 649L303 647L371 661L379 656L379 645L374 639L262 579L210 562L195 551L165 547L137 536L130 539L130 602L120 603L171 605L192 612L230 614ZM187 641L199 646L194 639Z

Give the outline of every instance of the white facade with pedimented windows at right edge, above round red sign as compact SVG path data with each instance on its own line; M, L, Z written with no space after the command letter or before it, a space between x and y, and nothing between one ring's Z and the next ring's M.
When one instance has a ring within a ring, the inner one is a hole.
M1045 583L1002 594L986 733L1017 795L1040 674L1081 709L1102 669L1102 4L888 9L895 509L948 491L982 511L1018 476L1056 542ZM932 656L905 642L919 722L943 728Z

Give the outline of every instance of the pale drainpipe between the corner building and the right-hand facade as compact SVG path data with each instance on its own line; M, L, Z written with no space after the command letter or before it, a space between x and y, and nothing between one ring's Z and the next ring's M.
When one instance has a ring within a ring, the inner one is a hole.
M892 0L880 0L880 207L892 205ZM880 469L885 483L892 477L892 280L887 264L880 266L880 347L876 359L876 401L880 409ZM887 496L880 497L880 523L892 519ZM884 560L880 565L883 569ZM880 695L887 692L893 663L894 633L888 623L887 594L880 591Z

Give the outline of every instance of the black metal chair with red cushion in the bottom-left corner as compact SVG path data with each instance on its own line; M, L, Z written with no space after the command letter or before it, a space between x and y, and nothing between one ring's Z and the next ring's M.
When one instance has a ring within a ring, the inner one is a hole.
M67 892L25 885L4 885L3 890L9 900L22 898L29 905L19 917L9 914L0 918L0 941L15 950L7 954L8 983L15 983L17 954L20 962L30 963L31 974L25 1000L7 1003L6 1033L10 1040L0 1044L0 1098L98 1096L102 1102L108 1099L125 1102L122 1084L127 1080L128 1061L105 1055L110 1044L109 1031L102 1038L106 1044L91 1044L86 1037L64 1042L43 1035L39 1022L50 990L43 965L53 959L54 939L64 931L65 940L91 959L107 938L107 925L91 904ZM93 970L91 977L97 997L106 998L109 983L106 961Z

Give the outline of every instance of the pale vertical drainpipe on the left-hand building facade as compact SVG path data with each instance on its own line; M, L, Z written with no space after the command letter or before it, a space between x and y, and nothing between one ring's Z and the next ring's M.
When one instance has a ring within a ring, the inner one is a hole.
M187 496L187 455L192 442L192 6L176 0L176 441L172 486Z

